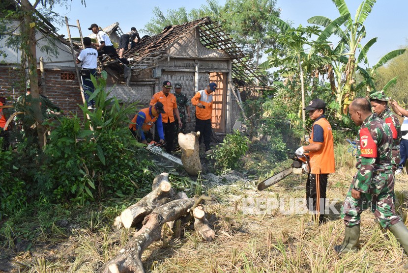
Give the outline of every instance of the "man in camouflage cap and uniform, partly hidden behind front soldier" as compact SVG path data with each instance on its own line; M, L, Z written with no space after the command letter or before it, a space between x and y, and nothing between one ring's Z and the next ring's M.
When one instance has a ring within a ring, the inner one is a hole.
M401 125L398 117L391 112L388 107L389 98L384 94L384 91L378 91L370 95L370 104L373 112L376 113L380 119L390 127L392 132L392 157L391 164L392 170L398 169L398 165L401 161L400 156L400 139L401 139Z

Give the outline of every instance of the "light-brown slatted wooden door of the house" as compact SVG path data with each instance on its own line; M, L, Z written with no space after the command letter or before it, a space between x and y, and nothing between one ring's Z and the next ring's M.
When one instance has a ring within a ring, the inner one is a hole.
M225 116L227 101L227 73L209 73L210 82L217 84L217 89L212 93L212 115L211 123L214 132L225 133Z

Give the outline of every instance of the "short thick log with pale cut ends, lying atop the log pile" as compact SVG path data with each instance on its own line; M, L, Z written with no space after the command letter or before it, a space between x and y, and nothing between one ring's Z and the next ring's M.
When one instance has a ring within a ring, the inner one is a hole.
M130 228L142 222L155 208L160 207L172 200L177 195L169 182L162 181L155 190L151 191L136 204L125 209L120 215L120 220L125 228Z

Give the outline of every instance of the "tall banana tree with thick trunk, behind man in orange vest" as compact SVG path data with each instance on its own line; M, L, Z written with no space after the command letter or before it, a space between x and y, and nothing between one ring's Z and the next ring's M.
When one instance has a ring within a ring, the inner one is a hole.
M367 19L367 16L371 13L376 0L364 0L361 2L359 7L356 10L354 20L351 17L349 8L346 5L345 0L332 0L333 3L336 5L342 20L345 22L337 27L337 29L333 29L334 25L331 25L334 21L330 20L324 16L315 16L308 20L311 24L316 24L320 26L326 27L325 30L321 33L321 36L318 38L323 40L330 37L331 34L337 34L340 36L341 41L340 43L344 43L348 47L348 51L342 53L343 56L348 58L346 65L341 65L338 68L338 75L336 77L342 78L344 76L344 83L341 84L341 87L338 86L337 90L337 102L339 103L339 109L346 109L344 106L347 106L351 99L354 97L354 90L353 84L355 83L355 71L356 65L356 52L360 45L361 39L366 36L366 29L364 27L364 22ZM336 19L337 20L337 19ZM341 26L344 26L345 29L342 29ZM327 28L331 26L330 28ZM345 46L342 46L346 48ZM340 77L339 77L340 76ZM340 80L338 79L338 83ZM341 91L339 91L341 88ZM340 114L340 113L338 113Z

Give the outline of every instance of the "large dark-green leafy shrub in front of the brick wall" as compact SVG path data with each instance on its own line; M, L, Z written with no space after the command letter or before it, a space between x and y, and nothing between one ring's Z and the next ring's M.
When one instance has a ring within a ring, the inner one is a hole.
M40 192L52 200L83 205L97 196L123 197L152 179L153 164L135 156L141 144L127 128L136 105L120 105L116 97L109 98L106 77L103 73L98 81L92 79L95 91L89 99L95 100L97 109L90 112L81 106L90 120L81 124L77 117L61 117L52 130L42 171L36 176Z

